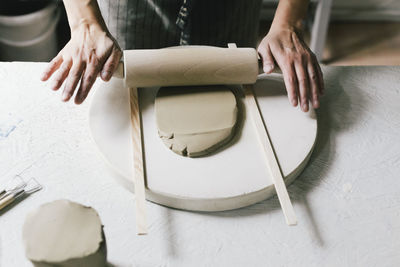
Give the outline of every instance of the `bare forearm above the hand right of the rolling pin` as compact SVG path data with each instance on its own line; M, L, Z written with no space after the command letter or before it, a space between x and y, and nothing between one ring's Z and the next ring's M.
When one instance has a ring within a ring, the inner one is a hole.
M301 29L306 16L309 0L280 0L272 27Z

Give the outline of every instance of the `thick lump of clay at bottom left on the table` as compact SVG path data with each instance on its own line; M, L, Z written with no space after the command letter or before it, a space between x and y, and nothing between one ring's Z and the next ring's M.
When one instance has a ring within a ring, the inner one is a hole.
M28 214L22 236L36 267L106 266L103 227L93 208L68 200L43 204Z

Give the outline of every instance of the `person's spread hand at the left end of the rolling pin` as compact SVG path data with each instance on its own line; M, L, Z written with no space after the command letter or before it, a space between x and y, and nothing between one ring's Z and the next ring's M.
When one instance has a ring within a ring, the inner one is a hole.
M46 81L53 76L53 90L58 90L65 81L63 101L73 96L80 81L75 103L81 104L97 75L100 74L104 81L110 80L121 56L121 49L107 29L82 21L71 30L71 40L48 64L41 79Z

